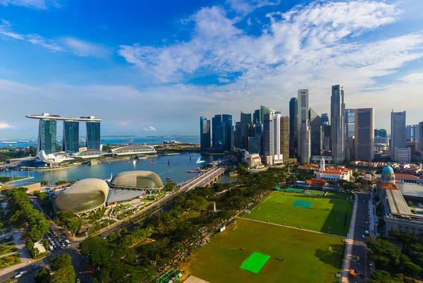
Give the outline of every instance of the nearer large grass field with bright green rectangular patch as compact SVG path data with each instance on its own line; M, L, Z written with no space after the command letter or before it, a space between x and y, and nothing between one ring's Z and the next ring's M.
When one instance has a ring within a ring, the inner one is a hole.
M241 268L250 264L254 253L270 256L257 274ZM332 283L339 282L335 275L341 271L342 253L338 237L237 219L237 224L212 237L180 267L186 276L213 283Z

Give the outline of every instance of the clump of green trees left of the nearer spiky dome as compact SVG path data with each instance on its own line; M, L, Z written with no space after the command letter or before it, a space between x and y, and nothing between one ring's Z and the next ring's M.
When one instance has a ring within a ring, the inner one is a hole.
M29 225L28 236L38 241L49 231L50 224L42 212L32 207L26 191L27 188L12 188L4 193L11 198L8 201L8 210L11 212L8 214L11 215L8 222L19 228Z

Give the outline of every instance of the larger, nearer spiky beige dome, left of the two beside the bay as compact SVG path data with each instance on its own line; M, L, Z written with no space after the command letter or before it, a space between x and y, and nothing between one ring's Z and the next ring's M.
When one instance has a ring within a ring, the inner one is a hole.
M100 179L83 179L56 196L53 208L56 212L71 211L78 217L96 212L106 203L109 186Z

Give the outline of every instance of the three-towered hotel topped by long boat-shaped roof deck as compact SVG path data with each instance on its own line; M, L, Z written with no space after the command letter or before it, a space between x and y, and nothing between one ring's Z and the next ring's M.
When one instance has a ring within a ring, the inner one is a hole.
M62 148L69 154L79 152L79 124L85 122L87 126L87 150L100 150L100 122L94 116L64 117L43 113L41 115L28 115L30 119L39 119L37 155L44 152L51 155L56 152L57 121L63 121ZM82 140L83 142L84 140Z

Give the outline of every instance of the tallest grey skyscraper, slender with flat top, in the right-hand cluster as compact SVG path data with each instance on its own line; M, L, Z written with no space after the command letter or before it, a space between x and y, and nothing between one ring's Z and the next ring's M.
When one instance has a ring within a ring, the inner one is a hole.
M331 143L333 162L345 159L345 102L343 85L332 85L331 95Z

